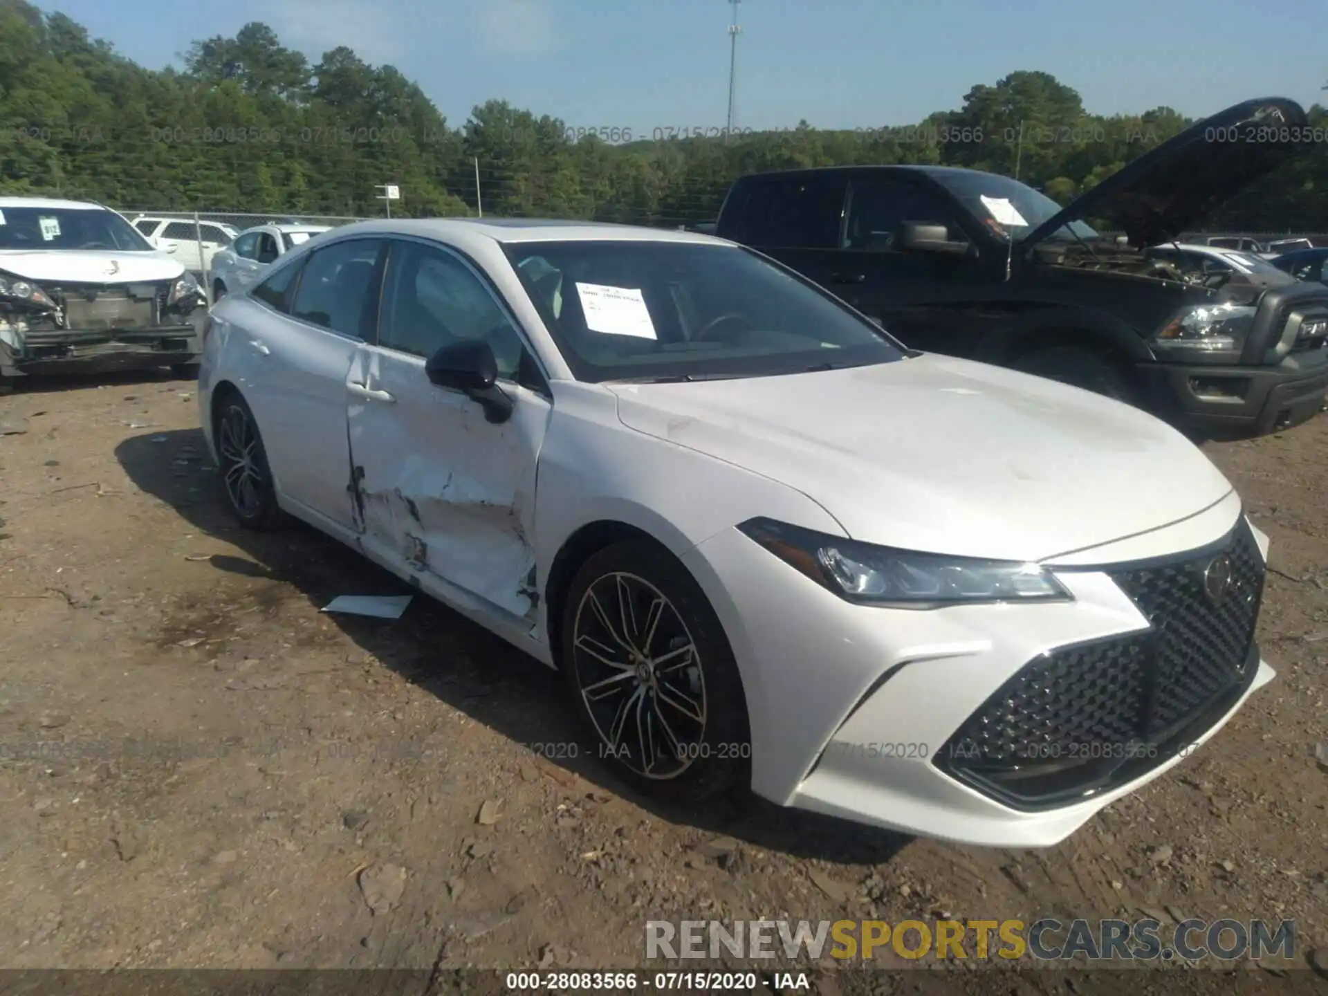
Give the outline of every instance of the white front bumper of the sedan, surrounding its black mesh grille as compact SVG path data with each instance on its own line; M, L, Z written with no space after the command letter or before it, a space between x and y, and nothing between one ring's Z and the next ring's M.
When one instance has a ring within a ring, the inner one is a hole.
M1133 538L1129 556L1190 554L1230 535L1239 515L1231 495L1183 523ZM1264 542L1259 546L1266 556ZM1255 657L1239 699L1186 729L1179 753L1167 756L1169 745L1159 744L1154 762L1054 805L1019 807L947 773L938 764L946 745L1031 661L1149 631L1110 568L1092 566L1093 551L1082 556L1082 568L1053 568L1073 602L910 611L847 603L738 530L699 544L683 560L720 616L741 672L753 791L959 843L1052 846L1211 738L1272 679L1272 668ZM1100 692L1086 688L1082 701L1092 705ZM1110 736L1084 740L1116 749Z

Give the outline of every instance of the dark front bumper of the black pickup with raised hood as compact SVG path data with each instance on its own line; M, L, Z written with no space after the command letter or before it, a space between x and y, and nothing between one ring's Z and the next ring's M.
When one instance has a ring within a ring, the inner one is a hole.
M1328 356L1293 353L1275 367L1147 363L1139 373L1159 414L1219 440L1267 436L1312 418L1328 393Z

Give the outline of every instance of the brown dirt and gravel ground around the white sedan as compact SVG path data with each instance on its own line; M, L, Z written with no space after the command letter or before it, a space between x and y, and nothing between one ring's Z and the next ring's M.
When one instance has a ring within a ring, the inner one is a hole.
M1279 677L1058 847L625 793L556 677L304 527L228 519L193 385L0 397L0 965L633 967L647 919L1296 920L1328 946L1328 417L1210 446ZM887 964L890 964L887 961Z

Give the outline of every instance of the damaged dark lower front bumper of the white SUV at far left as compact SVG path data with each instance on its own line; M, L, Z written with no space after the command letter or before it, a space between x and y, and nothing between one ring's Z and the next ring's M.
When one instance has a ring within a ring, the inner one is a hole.
M137 367L174 367L198 360L193 323L127 329L37 329L0 335L0 374L21 376Z

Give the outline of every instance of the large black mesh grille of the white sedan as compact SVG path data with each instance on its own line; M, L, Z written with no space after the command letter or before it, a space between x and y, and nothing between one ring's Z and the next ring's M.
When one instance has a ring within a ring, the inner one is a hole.
M1011 805L1054 805L1162 764L1244 692L1264 578L1244 519L1199 554L1108 574L1151 628L1031 661L942 749L943 770Z

